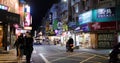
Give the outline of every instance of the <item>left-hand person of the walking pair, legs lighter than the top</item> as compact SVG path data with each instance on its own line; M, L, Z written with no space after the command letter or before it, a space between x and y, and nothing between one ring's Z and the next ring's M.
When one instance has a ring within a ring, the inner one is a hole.
M22 59L23 50L24 50L23 34L20 34L20 36L18 36L17 40L14 43L14 47L16 48L17 59L18 61L20 61Z

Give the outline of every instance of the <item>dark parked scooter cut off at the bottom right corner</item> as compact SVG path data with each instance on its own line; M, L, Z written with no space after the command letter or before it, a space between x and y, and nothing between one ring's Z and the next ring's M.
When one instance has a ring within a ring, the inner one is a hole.
M112 51L109 54L109 63L120 63L119 60L120 54L120 44L117 44L113 47Z

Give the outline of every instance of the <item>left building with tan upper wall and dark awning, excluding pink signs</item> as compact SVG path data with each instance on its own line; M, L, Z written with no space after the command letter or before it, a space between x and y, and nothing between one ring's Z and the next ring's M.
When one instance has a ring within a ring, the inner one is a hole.
M15 25L19 25L18 0L0 0L0 47L9 50L15 41Z

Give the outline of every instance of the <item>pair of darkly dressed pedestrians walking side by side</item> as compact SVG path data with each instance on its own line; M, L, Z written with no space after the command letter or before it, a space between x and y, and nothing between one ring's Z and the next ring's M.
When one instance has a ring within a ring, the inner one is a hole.
M32 51L33 51L33 38L30 32L26 32L25 36L21 33L15 41L14 47L16 47L18 60L22 59L22 56L26 56L26 63L30 63Z

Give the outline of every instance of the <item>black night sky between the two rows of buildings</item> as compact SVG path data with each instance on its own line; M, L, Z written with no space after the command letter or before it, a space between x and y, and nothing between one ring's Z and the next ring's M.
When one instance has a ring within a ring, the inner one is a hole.
M46 12L53 3L57 3L57 0L29 0L32 14L32 26L33 30L37 30L42 24L42 19Z

